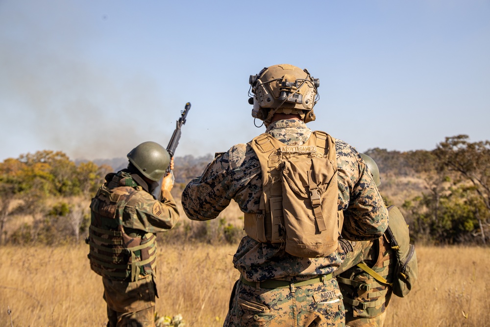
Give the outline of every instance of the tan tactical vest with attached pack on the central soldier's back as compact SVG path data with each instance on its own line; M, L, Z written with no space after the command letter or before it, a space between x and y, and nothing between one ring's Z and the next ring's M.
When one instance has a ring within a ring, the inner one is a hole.
M248 143L262 171L260 213L245 213L245 232L258 242L285 243L299 257L326 256L338 247L343 224L338 212L335 139L315 131L301 146L268 133Z

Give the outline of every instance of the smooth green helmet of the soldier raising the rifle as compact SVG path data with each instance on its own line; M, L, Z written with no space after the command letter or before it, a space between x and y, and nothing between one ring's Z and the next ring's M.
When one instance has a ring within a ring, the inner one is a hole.
M129 162L147 178L157 181L165 175L170 155L155 142L143 142L127 154Z

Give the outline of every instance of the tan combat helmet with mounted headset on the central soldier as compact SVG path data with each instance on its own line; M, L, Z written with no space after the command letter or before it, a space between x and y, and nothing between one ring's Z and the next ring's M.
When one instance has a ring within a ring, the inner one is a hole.
M313 106L318 101L320 81L308 70L281 64L250 75L248 103L253 104L252 117L270 122L276 112L299 114L305 123L315 120Z

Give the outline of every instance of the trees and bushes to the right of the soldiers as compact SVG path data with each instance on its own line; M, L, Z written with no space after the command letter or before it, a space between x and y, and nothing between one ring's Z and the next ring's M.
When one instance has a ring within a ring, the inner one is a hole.
M446 137L432 151L367 151L381 174L417 176L425 188L401 205L415 241L487 244L490 235L490 141Z

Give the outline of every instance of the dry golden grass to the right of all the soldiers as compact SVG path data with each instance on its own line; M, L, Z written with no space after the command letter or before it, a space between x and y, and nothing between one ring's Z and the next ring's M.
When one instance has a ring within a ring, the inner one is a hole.
M490 326L490 249L417 247L418 281L392 297L386 326Z

